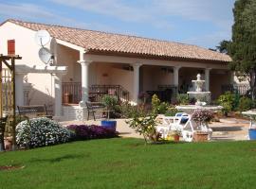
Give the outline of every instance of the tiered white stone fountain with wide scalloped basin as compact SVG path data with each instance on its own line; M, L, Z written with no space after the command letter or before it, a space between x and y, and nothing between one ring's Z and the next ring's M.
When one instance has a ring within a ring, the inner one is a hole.
M201 79L200 74L197 74L196 80L192 80L192 83L194 83L195 85L195 91L188 92L187 94L189 94L190 97L194 97L196 99L195 105L176 106L176 109L178 111L192 113L194 110L206 109L212 112L216 112L223 108L222 106L208 105L210 103L210 92L203 91L205 80Z

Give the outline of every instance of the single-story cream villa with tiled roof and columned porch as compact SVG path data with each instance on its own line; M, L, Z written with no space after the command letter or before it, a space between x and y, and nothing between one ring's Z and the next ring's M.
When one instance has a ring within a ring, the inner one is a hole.
M51 65L39 58L42 46L34 40L43 29L51 36L45 46L54 56ZM66 119L83 119L84 102L103 94L135 104L140 93L171 100L190 90L200 73L215 99L233 82L229 56L196 45L18 20L0 25L0 54L7 54L8 40L22 57L16 61L16 104L46 104Z

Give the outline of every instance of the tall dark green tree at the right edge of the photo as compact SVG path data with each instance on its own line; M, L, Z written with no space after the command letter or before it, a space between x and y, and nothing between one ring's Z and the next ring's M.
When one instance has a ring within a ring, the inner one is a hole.
M234 25L228 54L232 58L230 68L247 77L251 98L256 92L256 1L237 0L233 9Z

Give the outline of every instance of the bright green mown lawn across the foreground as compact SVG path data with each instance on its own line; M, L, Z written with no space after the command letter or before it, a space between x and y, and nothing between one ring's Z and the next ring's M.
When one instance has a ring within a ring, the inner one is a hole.
M0 153L0 188L256 188L256 142L106 139Z

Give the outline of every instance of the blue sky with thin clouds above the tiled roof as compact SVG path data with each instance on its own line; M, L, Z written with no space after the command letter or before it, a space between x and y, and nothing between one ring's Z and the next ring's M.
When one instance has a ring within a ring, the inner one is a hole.
M0 0L9 18L214 48L231 37L235 0Z

